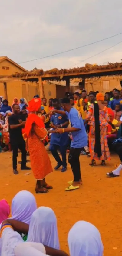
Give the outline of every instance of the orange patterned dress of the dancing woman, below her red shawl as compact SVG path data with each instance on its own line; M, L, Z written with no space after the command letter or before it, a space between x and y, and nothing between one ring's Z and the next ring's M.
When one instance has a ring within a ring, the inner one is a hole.
M28 136L27 146L30 153L31 168L37 180L43 180L53 171L51 161L42 142L47 136L45 128L34 127L34 133Z

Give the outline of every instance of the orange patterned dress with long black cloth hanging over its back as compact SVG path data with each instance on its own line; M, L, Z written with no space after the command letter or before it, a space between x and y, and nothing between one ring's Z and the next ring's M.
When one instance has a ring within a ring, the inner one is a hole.
M90 126L89 150L90 150L91 159L98 160L99 158L97 156L97 153L94 152L94 146L95 146L94 104L91 104L91 106L89 106L86 119L89 120L88 124ZM107 138L106 138L107 126L110 119L108 116L108 111L106 106L104 106L103 110L99 110L99 119L100 119L101 152L102 152L100 160L110 160L110 152L109 152Z

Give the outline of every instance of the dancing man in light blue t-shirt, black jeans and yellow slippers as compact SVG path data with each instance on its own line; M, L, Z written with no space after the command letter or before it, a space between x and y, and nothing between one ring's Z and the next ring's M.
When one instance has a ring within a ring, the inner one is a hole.
M71 132L71 149L68 156L68 162L74 175L74 180L68 182L69 186L66 191L80 188L82 182L79 156L81 149L87 146L87 133L85 130L84 122L78 111L71 106L70 99L62 99L62 105L65 111L56 110L59 114L67 115L71 127L58 128L57 132L63 134L64 132Z

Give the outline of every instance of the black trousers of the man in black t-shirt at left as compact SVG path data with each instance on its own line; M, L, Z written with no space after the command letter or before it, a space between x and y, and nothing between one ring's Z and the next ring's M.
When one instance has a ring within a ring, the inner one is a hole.
M17 157L18 157L18 149L21 150L21 167L26 166L26 150L25 150L25 141L21 141L18 144L11 144L13 150L13 169L17 168Z

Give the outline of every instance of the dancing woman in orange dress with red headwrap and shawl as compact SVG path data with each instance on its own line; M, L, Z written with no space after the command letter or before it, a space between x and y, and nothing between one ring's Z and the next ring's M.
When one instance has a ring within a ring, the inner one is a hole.
M48 141L48 132L45 129L43 120L38 117L37 111L41 107L41 99L32 99L28 102L28 110L31 114L28 115L25 124L26 145L30 153L31 167L36 182L35 192L46 193L48 189L52 189L45 182L45 177L51 173L52 166L48 153L45 149L45 141ZM42 118L45 118L42 116Z

